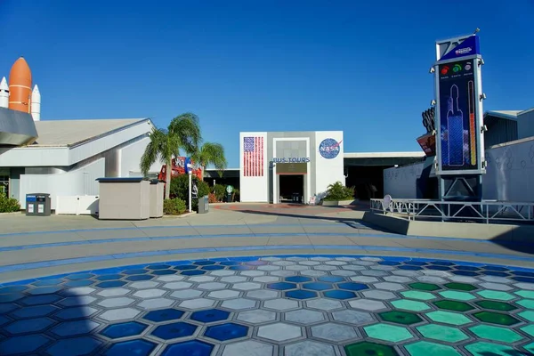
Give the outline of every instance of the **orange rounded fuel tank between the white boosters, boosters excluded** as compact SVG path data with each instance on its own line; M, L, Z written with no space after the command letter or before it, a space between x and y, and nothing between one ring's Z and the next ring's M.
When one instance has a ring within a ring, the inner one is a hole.
M20 57L9 73L9 109L31 112L31 70Z

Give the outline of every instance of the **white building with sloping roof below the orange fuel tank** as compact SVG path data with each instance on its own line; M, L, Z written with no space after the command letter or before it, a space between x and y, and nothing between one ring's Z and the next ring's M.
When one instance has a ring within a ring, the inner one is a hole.
M26 194L98 195L101 177L139 176L154 127L149 118L36 121L33 144L0 147L0 186L26 207ZM161 164L150 167L159 172Z

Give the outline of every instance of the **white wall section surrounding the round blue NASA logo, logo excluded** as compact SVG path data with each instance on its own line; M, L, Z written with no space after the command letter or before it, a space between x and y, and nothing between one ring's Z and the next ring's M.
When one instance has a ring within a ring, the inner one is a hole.
M325 139L341 142L336 158L328 159L320 155L320 142ZM315 191L312 191L312 196L313 194L324 193L328 189L328 185L337 181L345 183L343 131L318 131L315 133L315 145L315 152L311 153L311 159L315 160L315 172L313 173L315 175Z

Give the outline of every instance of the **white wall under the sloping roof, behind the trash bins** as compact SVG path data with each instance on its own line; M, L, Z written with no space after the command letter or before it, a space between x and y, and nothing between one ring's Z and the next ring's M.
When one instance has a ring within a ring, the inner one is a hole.
M57 196L98 195L97 178L105 173L105 160L101 158L77 170L63 174L21 174L19 201L26 208L26 194L48 193L55 209Z

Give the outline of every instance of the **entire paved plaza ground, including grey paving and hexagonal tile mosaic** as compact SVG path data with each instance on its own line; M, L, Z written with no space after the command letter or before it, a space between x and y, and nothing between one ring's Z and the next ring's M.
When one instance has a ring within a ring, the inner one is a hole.
M361 211L0 216L0 355L527 355L534 258Z

